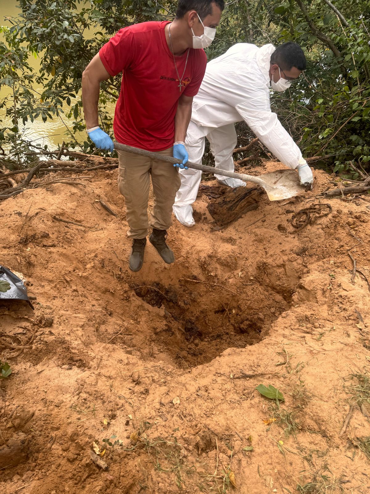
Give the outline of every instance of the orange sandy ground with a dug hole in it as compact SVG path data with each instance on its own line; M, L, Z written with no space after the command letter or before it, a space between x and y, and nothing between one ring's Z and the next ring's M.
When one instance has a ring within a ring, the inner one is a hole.
M0 204L1 263L37 297L0 305L1 492L369 492L369 196L314 177L220 231L201 196L175 264L148 243L138 273L117 170Z

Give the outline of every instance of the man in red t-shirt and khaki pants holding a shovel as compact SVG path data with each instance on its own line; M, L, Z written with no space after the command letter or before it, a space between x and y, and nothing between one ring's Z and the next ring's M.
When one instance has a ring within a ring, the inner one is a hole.
M149 241L170 264L174 254L165 240L172 206L185 167L185 135L193 96L206 69L203 50L215 37L223 0L179 0L173 22L144 22L123 28L106 43L82 74L82 102L86 129L100 149L113 151L113 142L98 124L100 82L122 72L113 130L123 144L161 152L182 160L170 165L117 151L118 189L125 197L127 235L133 239L129 268L143 265L148 235L150 175L154 205Z

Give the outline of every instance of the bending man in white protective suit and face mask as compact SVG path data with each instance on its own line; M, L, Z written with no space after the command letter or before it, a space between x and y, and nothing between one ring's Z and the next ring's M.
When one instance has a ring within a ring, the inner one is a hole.
M234 171L232 151L237 143L234 124L244 120L278 160L297 170L300 183L311 190L312 171L270 108L270 87L274 91L285 91L305 68L304 53L293 42L277 48L272 44L259 48L238 43L208 62L199 92L193 99L187 128L185 145L189 162L202 163L207 137L215 167ZM173 211L183 225L193 226L191 205L196 199L202 172L191 168L179 171L181 187ZM215 177L229 187L246 185L242 180L216 173Z

